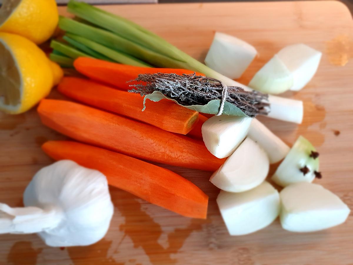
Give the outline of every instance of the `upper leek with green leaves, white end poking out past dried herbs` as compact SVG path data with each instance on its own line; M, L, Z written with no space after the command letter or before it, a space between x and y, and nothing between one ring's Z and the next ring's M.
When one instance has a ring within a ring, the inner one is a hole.
M125 18L74 0L68 3L68 11L103 29L97 29L85 24L79 28L79 25L76 24L79 22L72 20L69 23L70 19L61 18L59 26L63 30L86 37L92 41L97 41L109 48L128 53L152 65L190 69L220 80L226 86L237 86L248 91L252 90L210 69L190 55L180 51L166 40ZM75 29L75 27L77 28ZM271 111L268 114L269 117L301 123L303 118L302 101L270 95L269 103L271 105Z

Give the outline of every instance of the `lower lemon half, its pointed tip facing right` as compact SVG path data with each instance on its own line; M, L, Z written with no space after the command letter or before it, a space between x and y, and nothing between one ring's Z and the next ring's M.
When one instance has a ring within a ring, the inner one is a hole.
M63 72L26 38L0 32L0 111L29 110L57 84Z

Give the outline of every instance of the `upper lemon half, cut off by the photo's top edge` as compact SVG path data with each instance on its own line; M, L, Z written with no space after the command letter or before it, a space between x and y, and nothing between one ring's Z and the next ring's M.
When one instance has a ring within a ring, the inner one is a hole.
M26 37L36 44L48 40L58 24L55 0L4 0L0 31Z

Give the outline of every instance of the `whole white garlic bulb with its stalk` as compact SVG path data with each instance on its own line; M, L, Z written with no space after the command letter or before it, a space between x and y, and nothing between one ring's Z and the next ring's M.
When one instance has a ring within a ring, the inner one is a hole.
M106 177L71 160L38 171L23 202L20 208L0 203L0 234L38 233L52 247L101 240L114 212Z

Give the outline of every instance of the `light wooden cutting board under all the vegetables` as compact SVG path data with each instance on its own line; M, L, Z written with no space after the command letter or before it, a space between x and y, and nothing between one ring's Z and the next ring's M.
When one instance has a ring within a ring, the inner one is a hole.
M116 5L120 14L203 60L215 31L248 41L258 58L251 76L280 48L304 42L323 52L313 80L286 96L305 102L301 125L261 120L291 145L307 137L321 153L323 184L353 208L353 23L336 1ZM65 8L60 8L66 14ZM345 66L340 64L346 63ZM54 90L51 97L58 97ZM64 136L41 125L35 110L0 116L0 201L22 206L34 173L52 162L40 149ZM256 165L255 165L256 166ZM276 220L255 234L231 237L216 205L210 172L169 167L209 195L207 220L181 217L111 188L114 217L106 237L89 247L50 248L36 235L0 235L0 264L353 264L353 217L311 234L281 229ZM272 169L273 172L273 169Z

